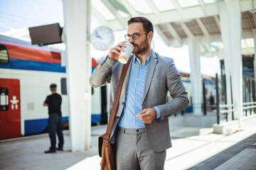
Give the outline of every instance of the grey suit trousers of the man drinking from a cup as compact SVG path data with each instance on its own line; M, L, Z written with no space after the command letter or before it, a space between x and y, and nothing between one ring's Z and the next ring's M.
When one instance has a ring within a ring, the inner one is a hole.
M119 128L117 134L117 170L164 169L166 150L154 152L142 129Z

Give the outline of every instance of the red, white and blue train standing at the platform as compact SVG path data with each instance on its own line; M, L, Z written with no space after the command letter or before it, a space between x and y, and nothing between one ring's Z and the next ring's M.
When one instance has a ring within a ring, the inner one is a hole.
M48 108L43 107L50 84L63 98L63 128L68 129L69 104L66 70L61 52L33 45L0 42L0 140L47 132ZM92 58L92 71L97 62ZM191 96L189 74L181 72ZM213 89L213 79L206 82ZM92 88L92 125L107 123L110 86ZM185 112L191 112L188 106Z

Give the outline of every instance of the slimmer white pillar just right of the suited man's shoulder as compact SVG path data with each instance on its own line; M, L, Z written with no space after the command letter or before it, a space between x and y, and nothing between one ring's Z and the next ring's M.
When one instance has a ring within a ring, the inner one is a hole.
M201 81L201 66L200 66L200 46L194 38L188 38L189 57L191 64L191 85L192 85L192 103L193 114L203 115L201 111L202 105L202 81Z

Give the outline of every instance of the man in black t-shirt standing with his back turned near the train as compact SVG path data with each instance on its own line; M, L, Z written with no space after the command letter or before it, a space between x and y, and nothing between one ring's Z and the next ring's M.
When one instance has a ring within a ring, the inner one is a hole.
M62 131L62 116L60 111L60 105L62 98L56 92L57 85L50 84L51 95L46 97L46 101L43 103L43 106L48 106L48 133L50 137L50 149L45 151L46 154L56 152L56 132L58 135L58 148L57 150L63 150L63 131Z

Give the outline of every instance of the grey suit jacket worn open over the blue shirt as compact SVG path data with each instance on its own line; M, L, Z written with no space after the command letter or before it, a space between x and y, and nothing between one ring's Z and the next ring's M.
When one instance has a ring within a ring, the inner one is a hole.
M110 135L112 143L115 142L115 130L117 129L117 124L124 108L131 65L132 62L129 64L117 106L117 113ZM106 57L105 61L98 64L90 77L90 85L93 87L104 86L111 83L109 113L111 113L114 96L117 91L117 85L123 67L124 64ZM171 98L173 98L173 100L169 102L167 102L168 91ZM161 112L161 118L155 119L153 123L145 124L149 145L154 152L161 152L171 147L168 117L186 108L188 103L188 94L181 81L181 75L174 65L174 60L169 57L161 57L156 52L152 51L146 72L142 109L157 106Z

